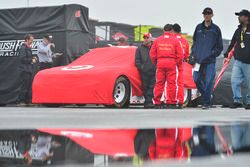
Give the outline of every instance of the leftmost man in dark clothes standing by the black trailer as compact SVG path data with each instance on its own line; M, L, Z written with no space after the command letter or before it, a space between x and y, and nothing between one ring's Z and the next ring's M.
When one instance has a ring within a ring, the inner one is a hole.
M21 72L21 90L19 94L20 104L30 104L32 96L33 65L37 58L32 55L31 44L34 37L31 34L25 35L25 42L19 49L20 72Z

